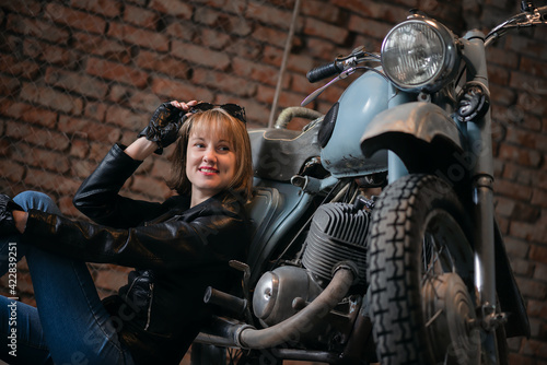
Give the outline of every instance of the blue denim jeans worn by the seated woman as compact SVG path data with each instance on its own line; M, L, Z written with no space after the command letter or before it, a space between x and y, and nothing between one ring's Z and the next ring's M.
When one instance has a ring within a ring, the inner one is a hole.
M13 200L25 210L60 214L43 193L27 191ZM37 308L0 296L1 360L9 364L133 364L85 262L21 244L19 235L13 235L0 237L0 276L9 268L13 271L8 258L15 250L18 260L26 256ZM15 297L16 290L12 294ZM14 321L16 326L10 326Z

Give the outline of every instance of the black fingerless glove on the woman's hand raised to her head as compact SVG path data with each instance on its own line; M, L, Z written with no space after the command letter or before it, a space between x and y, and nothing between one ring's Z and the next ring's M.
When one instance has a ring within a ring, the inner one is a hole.
M171 105L171 103L163 103L155 109L150 119L150 123L144 128L139 137L146 137L147 140L158 143L156 154L162 154L163 149L175 142L178 138L178 130L183 125L183 117L186 111Z

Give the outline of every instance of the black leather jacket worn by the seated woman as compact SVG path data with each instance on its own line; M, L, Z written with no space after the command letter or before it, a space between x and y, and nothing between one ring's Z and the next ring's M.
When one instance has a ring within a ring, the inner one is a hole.
M206 287L233 283L228 261L243 258L248 224L229 192L193 208L188 197L152 203L119 196L140 165L123 150L114 145L74 197L97 224L31 210L23 239L88 262L140 268L105 306L137 364L178 364L209 318Z

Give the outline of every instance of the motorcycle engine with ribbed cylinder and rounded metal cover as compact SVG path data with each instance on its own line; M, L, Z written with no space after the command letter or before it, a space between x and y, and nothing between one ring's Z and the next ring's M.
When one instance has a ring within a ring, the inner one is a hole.
M368 227L369 213L352 204L319 207L305 242L304 268L286 266L264 273L253 295L255 316L264 326L274 326L295 315L301 309L299 303L310 303L321 294L341 261L357 264L357 283L364 284Z

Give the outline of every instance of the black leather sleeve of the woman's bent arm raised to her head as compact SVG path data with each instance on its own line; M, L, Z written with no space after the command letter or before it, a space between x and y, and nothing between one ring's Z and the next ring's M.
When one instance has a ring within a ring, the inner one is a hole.
M159 214L161 204L121 197L118 192L140 166L115 144L97 168L82 182L74 207L94 222L112 227L128 228Z

